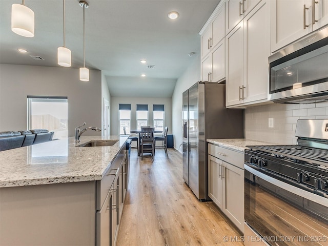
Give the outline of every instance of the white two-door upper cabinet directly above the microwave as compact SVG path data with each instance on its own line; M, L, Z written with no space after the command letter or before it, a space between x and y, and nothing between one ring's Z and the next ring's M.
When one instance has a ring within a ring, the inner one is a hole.
M271 52L328 24L328 0L272 0L270 2Z

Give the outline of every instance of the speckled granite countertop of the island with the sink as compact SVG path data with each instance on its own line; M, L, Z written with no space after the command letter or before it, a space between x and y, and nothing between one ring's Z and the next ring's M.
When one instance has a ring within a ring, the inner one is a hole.
M0 152L0 188L100 180L128 136L81 136L117 139L113 146L75 147L74 137ZM77 144L79 145L79 144Z

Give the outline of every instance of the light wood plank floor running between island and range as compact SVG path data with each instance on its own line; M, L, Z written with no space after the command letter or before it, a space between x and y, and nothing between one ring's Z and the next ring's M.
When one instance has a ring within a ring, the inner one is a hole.
M228 236L228 242L223 237ZM117 246L243 245L213 202L199 202L182 179L182 154L156 149L144 160L131 150L130 180Z

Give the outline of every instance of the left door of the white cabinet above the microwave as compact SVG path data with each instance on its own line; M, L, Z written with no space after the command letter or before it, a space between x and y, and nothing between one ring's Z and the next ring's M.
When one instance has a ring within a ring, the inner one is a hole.
M312 32L311 0L271 0L269 2L272 16L271 52ZM308 9L304 10L304 5Z

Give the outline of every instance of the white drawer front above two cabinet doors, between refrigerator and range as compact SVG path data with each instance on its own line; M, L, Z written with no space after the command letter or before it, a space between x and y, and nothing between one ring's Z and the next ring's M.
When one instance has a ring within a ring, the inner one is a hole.
M238 168L244 169L244 154L242 152L208 144L208 153Z

